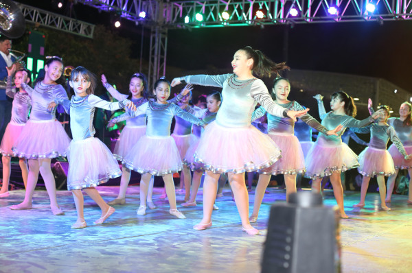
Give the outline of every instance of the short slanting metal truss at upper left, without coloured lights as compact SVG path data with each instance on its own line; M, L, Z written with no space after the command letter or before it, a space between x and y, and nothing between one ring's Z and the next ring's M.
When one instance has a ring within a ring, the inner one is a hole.
M93 38L94 25L83 21L71 19L60 14L47 12L39 8L33 8L30 5L18 3L25 21L34 24L40 24L44 27L58 29L62 32L69 32L79 36Z

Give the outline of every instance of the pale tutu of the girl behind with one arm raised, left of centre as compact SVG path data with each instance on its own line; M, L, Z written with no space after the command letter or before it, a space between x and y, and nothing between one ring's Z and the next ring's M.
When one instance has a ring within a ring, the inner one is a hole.
M117 140L113 154L123 161L130 149L146 134L146 126L125 126Z

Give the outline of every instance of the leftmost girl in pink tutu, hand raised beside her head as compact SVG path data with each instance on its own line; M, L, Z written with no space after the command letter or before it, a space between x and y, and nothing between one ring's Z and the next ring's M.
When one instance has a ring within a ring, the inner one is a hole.
M28 119L28 114L30 107L32 106L32 99L30 99L29 94L21 87L23 78L26 78L26 84L30 82L30 71L19 70L16 72L16 65L13 64L8 71L7 86L5 88L5 94L13 99L12 106L12 118L8 126L5 128L3 139L1 139L0 153L3 155L1 161L3 162L3 186L0 190L0 198L5 198L10 195L8 191L9 180L10 180L10 169L11 169L11 159L12 156L16 154L12 151L12 147L16 139L19 138L21 131L23 130L25 123ZM14 84L19 91L12 88L12 75L14 75ZM27 74L27 75L26 75ZM27 185L27 175L29 169L27 168L27 162L25 158L19 158L19 165L21 169L21 176L23 177L24 187Z

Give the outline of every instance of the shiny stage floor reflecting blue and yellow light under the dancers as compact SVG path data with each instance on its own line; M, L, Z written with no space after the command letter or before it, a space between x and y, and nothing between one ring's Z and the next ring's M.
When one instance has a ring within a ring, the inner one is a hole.
M108 201L118 187L98 190ZM46 191L35 192L34 209L27 211L8 209L24 196L24 191L11 191L9 198L0 198L0 272L260 272L268 211L273 202L285 202L284 190L268 190L253 224L262 230L258 236L240 230L229 189L217 199L213 227L201 231L192 229L201 219L201 204L180 206L187 219L177 219L168 213L168 201L159 199L159 188L157 209L136 215L139 187L129 187L128 204L115 206L116 212L98 226L93 222L100 210L85 198L89 226L80 230L70 229L76 222L71 192L58 191L66 215L54 216ZM378 210L378 193L368 193L365 209L352 208L358 200L358 192L345 193L351 218L341 220L343 272L411 272L412 206L407 196L393 195L389 212ZM253 205L253 192L250 201ZM177 195L177 202L183 202L183 195ZM325 204L336 204L332 191L325 193Z

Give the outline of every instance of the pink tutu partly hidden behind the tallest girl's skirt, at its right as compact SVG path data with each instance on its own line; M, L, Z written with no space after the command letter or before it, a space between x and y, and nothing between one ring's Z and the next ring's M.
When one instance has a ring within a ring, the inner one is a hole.
M268 133L273 141L282 150L282 158L271 167L258 170L259 174L303 174L305 172L304 152L297 137L293 134Z

